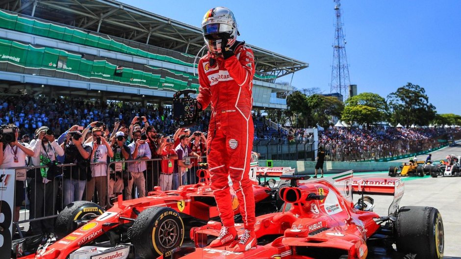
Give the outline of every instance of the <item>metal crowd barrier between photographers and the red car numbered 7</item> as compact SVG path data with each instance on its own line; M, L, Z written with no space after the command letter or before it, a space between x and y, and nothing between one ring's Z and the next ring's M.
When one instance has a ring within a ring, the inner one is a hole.
M160 181L171 180L169 189L196 183L197 170L205 166L197 165L194 158L184 157L186 164L190 161L194 166L182 170L182 177L174 173L181 170L174 168L178 165L172 162L174 172L167 179L162 175L161 162L168 159L161 158L58 164L53 172L45 165L11 168L15 169L16 177L19 172L26 171L26 180L18 180L15 185L14 205L20 209L13 212L13 229L19 230L28 223L32 233L53 232L58 213L74 201L93 201L108 208L112 206L111 198L118 195L123 195L124 200L144 197L154 186L161 186ZM206 157L203 159L205 162ZM144 166L145 170L140 170ZM18 233L23 237L21 231Z

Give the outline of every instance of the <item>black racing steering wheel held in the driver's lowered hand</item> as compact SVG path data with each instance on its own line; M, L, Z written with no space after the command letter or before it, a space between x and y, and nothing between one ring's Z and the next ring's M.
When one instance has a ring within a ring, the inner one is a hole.
M175 121L175 127L185 128L196 124L199 115L197 100L189 97L189 94L195 93L195 90L182 90L173 95L173 120ZM184 97L181 97L182 95Z

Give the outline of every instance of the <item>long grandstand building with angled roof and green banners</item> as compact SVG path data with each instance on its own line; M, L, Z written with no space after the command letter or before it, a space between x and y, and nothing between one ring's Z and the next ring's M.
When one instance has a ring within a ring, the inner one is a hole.
M200 28L114 0L4 0L0 94L168 104L198 89L203 45ZM293 88L279 78L308 64L251 47L254 107L286 108L277 93Z

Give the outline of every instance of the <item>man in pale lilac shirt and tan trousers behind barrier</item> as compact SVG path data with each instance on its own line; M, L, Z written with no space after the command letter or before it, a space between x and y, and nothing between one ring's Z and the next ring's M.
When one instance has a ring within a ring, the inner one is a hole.
M144 171L147 169L146 161L141 159L151 159L151 150L149 144L145 140L141 140L141 130L136 129L133 131L133 142L128 145L131 152L131 158L136 161L128 163L128 172L131 174L131 180L128 181L128 186L125 189L127 200L132 199L134 196L131 191L133 182L136 184L138 198L146 196L146 179L144 178Z

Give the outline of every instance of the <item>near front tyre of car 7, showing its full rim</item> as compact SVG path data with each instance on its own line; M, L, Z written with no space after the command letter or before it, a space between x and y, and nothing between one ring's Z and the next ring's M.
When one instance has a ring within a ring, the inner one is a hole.
M151 207L139 213L131 227L131 243L136 256L157 258L171 256L182 245L184 223L179 212L170 207Z

